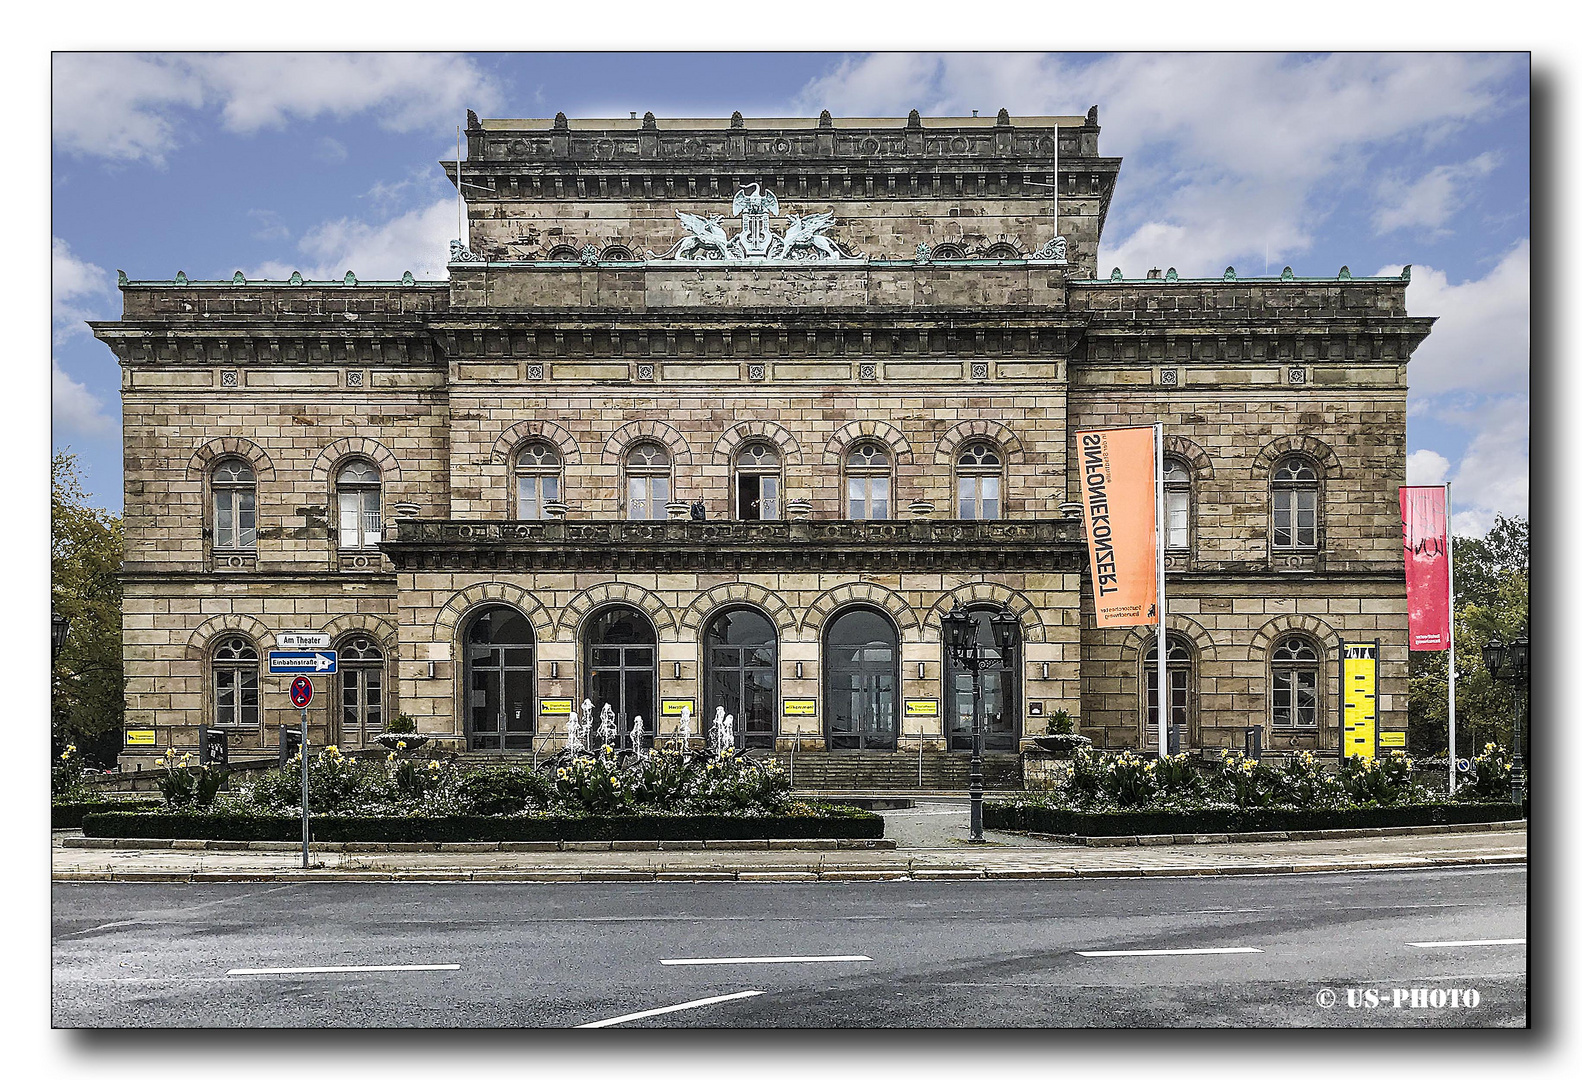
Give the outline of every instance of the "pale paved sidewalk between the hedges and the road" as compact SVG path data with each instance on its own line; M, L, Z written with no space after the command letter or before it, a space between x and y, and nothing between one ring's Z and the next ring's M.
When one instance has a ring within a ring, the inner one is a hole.
M1525 863L1527 829L1172 846L1087 848L987 832L967 844L963 802L883 811L892 851L176 851L52 849L55 881L878 881L1272 874Z

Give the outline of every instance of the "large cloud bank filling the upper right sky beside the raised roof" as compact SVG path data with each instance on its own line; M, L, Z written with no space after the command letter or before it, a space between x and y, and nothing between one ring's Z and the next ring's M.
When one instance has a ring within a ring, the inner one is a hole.
M1381 145L1432 145L1506 108L1497 81L1520 57L1474 54L1028 54L846 59L797 106L837 115L1073 115L1101 106L1103 150L1122 172L1101 267L1209 275L1275 267L1311 245L1332 201ZM1141 153L1144 152L1145 153ZM1133 163L1134 166L1137 163Z

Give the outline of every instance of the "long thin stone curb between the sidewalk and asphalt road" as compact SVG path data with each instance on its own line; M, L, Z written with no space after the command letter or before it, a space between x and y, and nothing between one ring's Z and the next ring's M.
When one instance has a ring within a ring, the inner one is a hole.
M1402 857L1368 862L1305 862L1305 863L1250 863L1240 867L1049 867L1049 868L998 868L998 867L892 867L851 870L831 867L827 870L775 870L712 867L709 870L666 870L652 867L628 870L623 867L593 867L587 870L57 870L59 882L122 881L122 882L240 882L240 881L532 881L532 882L751 882L751 881L984 881L1020 879L1054 881L1069 878L1248 878L1266 874L1313 874L1368 870L1435 870L1441 867L1527 865L1527 855L1460 855L1460 857Z

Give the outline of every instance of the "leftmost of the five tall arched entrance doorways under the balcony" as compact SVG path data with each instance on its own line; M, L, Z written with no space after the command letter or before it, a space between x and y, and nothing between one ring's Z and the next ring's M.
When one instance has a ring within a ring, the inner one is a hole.
M533 748L533 626L497 604L467 628L467 748Z

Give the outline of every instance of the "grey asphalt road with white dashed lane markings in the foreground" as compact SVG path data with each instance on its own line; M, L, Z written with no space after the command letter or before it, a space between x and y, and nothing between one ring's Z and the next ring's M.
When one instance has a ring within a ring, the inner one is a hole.
M1520 1026L1525 944L1410 942L1525 938L1525 867L970 882L60 882L52 1015L57 1026L577 1026L631 1014L650 1015L609 1026ZM1161 949L1245 952L1082 955ZM663 963L744 957L756 961ZM783 957L867 960L766 961ZM231 974L367 966L397 969ZM688 1007L652 1012L669 1006Z

